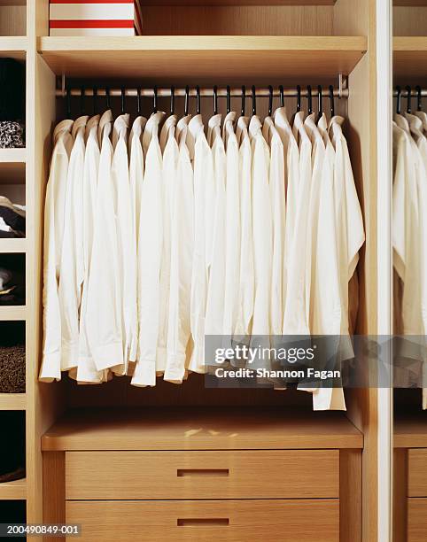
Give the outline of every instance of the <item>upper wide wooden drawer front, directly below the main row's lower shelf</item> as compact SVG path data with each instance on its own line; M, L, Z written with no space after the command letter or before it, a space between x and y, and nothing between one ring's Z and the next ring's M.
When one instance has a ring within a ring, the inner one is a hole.
M320 499L338 495L338 450L66 453L66 499Z

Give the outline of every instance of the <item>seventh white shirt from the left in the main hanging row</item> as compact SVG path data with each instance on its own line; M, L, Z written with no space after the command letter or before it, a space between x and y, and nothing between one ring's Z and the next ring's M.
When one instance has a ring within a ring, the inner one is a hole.
M138 360L132 383L156 385L159 340L160 270L163 252L162 155L159 123L165 113L153 113L145 125L145 171L141 195L138 243Z

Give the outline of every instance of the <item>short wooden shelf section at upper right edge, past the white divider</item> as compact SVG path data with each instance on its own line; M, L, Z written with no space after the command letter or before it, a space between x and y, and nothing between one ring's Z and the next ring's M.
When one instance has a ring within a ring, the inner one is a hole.
M394 78L425 79L427 74L427 36L404 36L393 39ZM420 81L420 84L423 81Z

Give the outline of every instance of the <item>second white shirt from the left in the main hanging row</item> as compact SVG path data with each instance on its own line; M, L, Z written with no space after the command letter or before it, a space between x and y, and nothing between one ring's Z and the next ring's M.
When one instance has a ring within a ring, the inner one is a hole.
M79 356L79 313L84 278L83 262L83 169L87 116L74 121L74 145L68 166L64 237L58 298L61 310L61 370L76 368Z

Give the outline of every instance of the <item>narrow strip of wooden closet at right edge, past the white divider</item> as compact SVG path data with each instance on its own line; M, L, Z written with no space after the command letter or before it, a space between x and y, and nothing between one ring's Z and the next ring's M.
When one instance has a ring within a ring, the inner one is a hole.
M402 89L402 112L407 108L407 86L412 107L420 86L425 108L427 88L427 2L395 0L393 8L393 88ZM396 100L393 112L396 111ZM425 276L422 280L425 280ZM394 292L396 295L396 291ZM399 318L398 314L394 314ZM399 384L398 384L399 385ZM422 390L394 389L393 540L418 542L427 537L427 413Z

